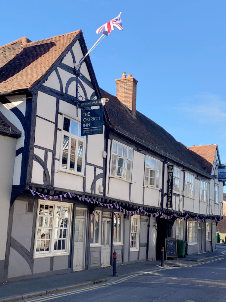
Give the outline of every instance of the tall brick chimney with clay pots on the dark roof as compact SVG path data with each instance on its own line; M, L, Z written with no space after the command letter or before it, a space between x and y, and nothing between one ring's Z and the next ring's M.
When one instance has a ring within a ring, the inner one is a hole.
M137 102L137 83L138 81L122 72L122 78L115 80L116 83L116 96L132 111L133 116L136 116L136 102Z

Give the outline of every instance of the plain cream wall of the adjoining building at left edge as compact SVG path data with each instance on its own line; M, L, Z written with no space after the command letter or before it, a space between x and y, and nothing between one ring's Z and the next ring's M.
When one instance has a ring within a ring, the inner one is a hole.
M0 135L0 260L5 259L9 206L13 182L16 139Z

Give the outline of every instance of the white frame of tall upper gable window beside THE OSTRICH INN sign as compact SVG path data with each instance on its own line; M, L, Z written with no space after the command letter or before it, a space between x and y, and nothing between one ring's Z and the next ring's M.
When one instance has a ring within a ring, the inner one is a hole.
M72 122L70 122L70 128L69 128L69 132L64 130L64 117L74 121L78 124L78 133L79 133L79 128L81 127L81 123L78 120L75 120L72 117L69 117L65 114L62 115L62 128L61 128L61 145L60 145L60 162L59 162L59 171L62 172L67 172L67 173L71 173L71 174L76 174L76 175L81 175L84 176L84 166L85 166L85 152L86 152L86 137L80 137L79 135L75 135L73 133L71 133L71 124ZM64 140L64 136L69 137L69 143L68 143L68 150L71 149L71 138L76 139L76 153L75 153L75 163L74 163L74 171L70 170L70 156L69 156L69 152L68 152L68 156L67 156L67 169L64 169L62 167L62 159L63 159L63 140ZM82 141L83 142L83 156L82 156L82 168L81 168L81 172L77 171L77 163L78 163L78 141Z

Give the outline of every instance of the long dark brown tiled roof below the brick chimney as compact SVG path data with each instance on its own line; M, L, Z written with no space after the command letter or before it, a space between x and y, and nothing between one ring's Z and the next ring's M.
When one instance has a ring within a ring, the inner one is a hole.
M163 127L150 120L144 114L136 111L136 118L132 117L130 111L115 95L111 95L100 88L102 98L107 97L109 101L105 104L106 112L112 128L120 127L129 131L141 140L156 146L158 149L179 158L184 163L199 169L199 172L206 175L200 162L198 162L182 143L168 133Z

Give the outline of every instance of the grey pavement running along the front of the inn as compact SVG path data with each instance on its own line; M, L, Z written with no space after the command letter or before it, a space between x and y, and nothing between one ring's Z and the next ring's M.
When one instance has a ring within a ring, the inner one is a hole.
M226 255L226 244L217 244L217 252L189 255L184 259L178 258L178 261L168 260L165 261L165 266L168 268L175 267L176 265L180 267L190 267L195 265L195 262L214 261L215 258L220 259L219 257L224 255ZM224 259L224 257L222 259ZM160 265L160 261L120 265L117 267L117 272L119 277L131 276L142 272L155 271L156 267L158 268ZM23 281L6 282L0 285L0 302L14 302L31 297L73 290L75 288L86 287L97 283L102 284L115 278L112 277L112 271L112 267L109 267Z

